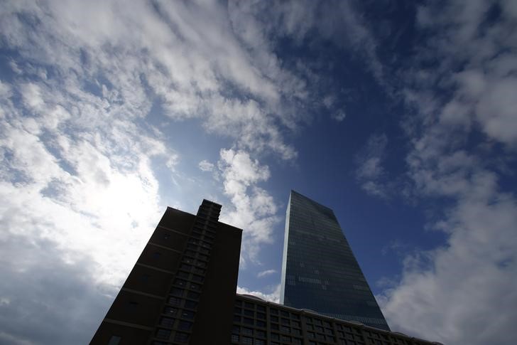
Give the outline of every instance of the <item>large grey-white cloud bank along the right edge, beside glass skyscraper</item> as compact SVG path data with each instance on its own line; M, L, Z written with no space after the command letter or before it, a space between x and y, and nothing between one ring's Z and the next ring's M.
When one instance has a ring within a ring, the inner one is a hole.
M503 6L496 20L486 17L490 6ZM408 85L414 87L403 92L415 110L403 124L411 140L406 162L413 193L445 205L429 227L447 240L408 255L401 279L378 297L392 329L445 344L511 344L516 337L517 200L502 190L492 160L511 159L517 133L516 57L507 55L516 48L510 38L515 18L506 6L450 1L420 7L418 20L430 39L415 64L430 57L438 64L411 70ZM445 90L433 95L435 85ZM494 142L506 152L496 152Z

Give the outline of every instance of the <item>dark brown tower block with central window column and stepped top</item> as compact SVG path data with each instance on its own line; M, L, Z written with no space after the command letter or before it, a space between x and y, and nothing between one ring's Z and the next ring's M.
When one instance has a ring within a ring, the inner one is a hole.
M167 208L90 344L228 344L242 230Z

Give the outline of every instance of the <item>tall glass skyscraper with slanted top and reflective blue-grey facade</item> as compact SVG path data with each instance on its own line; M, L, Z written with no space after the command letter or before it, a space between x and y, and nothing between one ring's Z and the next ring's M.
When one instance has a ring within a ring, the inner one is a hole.
M389 330L334 212L291 191L281 304Z

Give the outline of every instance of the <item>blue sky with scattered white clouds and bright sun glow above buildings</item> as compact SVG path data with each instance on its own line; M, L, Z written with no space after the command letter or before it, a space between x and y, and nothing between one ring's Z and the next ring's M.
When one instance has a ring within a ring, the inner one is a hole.
M0 343L87 344L203 198L278 301L294 189L393 331L511 344L516 31L513 0L1 1Z

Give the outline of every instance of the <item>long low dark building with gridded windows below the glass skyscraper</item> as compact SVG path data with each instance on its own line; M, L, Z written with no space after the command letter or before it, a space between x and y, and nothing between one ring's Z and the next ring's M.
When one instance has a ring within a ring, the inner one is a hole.
M215 344L215 343L214 343ZM230 344L246 345L430 345L406 334L335 319L237 294Z

